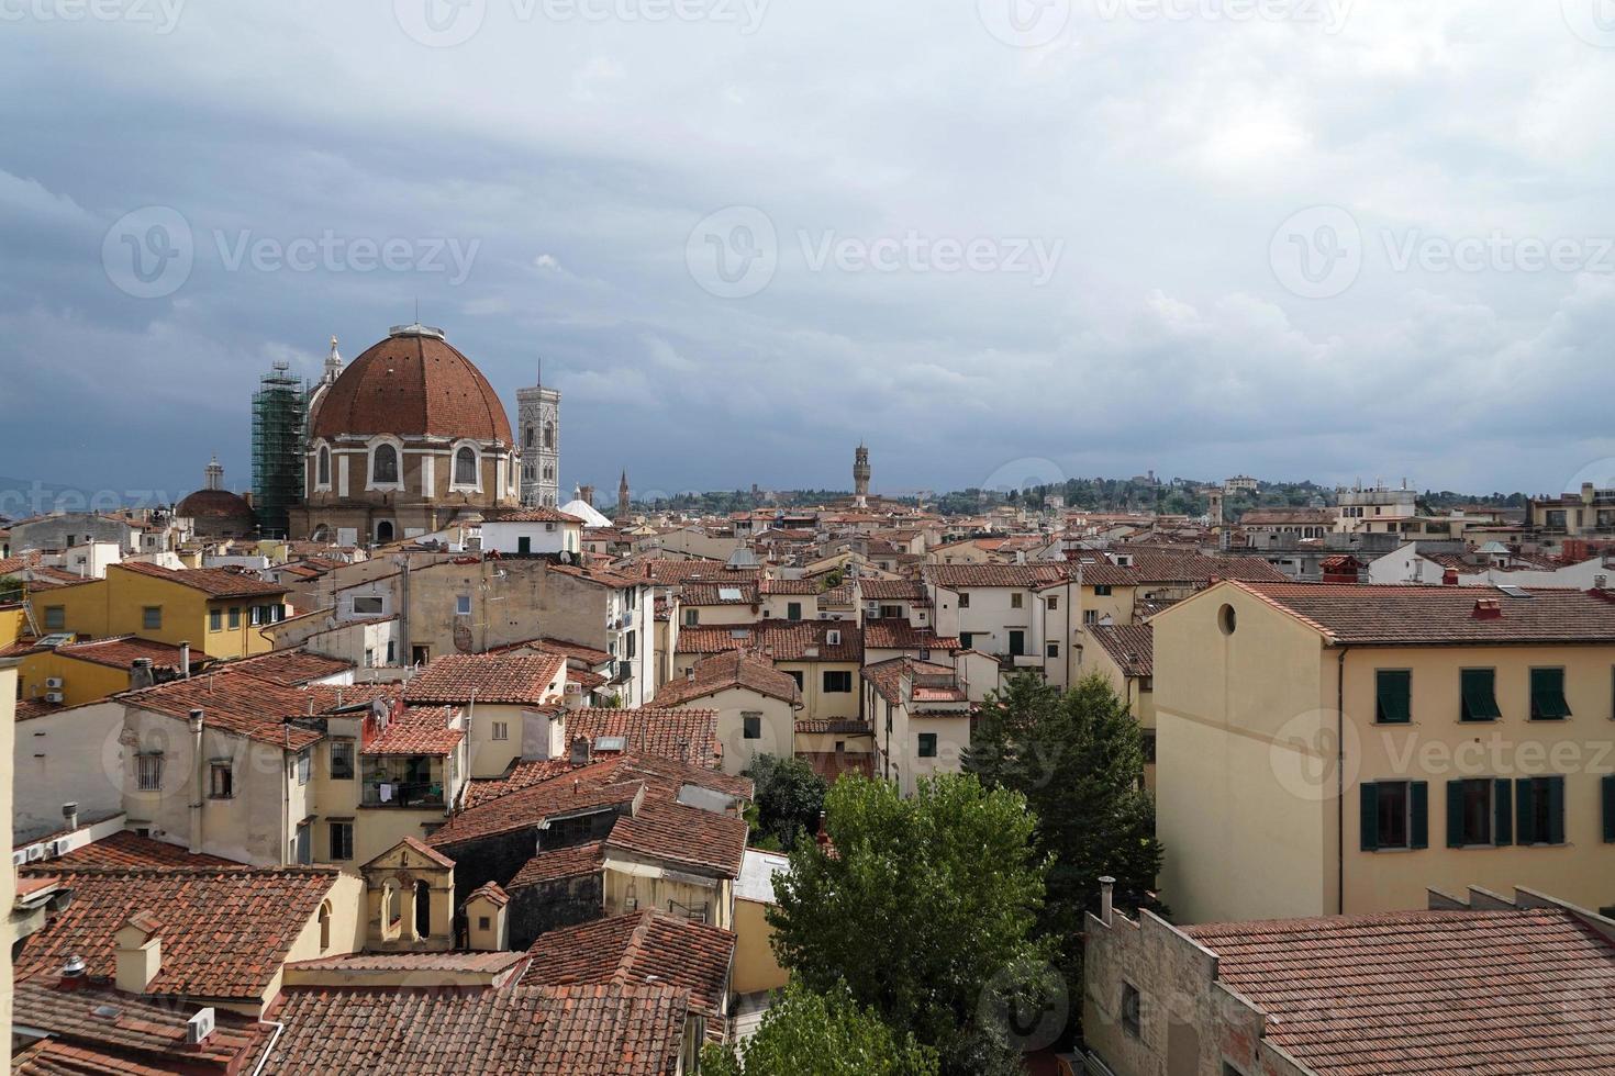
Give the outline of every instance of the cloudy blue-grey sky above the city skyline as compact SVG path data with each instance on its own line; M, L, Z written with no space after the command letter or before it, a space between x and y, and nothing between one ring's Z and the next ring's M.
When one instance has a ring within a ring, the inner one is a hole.
M0 90L11 482L249 487L417 300L568 489L1615 473L1610 0L0 0Z

